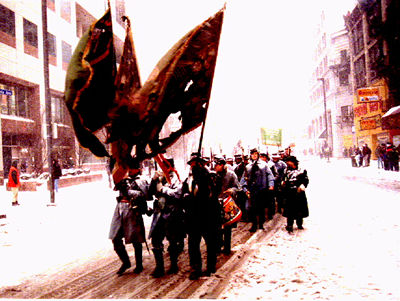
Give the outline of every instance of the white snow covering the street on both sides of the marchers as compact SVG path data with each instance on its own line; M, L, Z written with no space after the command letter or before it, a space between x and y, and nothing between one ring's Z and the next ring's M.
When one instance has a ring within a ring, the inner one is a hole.
M305 230L288 234L281 227L253 239L247 247L255 251L244 264L230 275L217 273L231 277L218 298L400 300L400 174L352 168L347 160L301 163L310 178ZM61 189L56 206L47 206L44 190L20 193L18 207L8 205L10 192L1 196L7 219L0 226L0 287L115 258L107 236L116 193L105 177ZM150 220L145 217L146 229ZM135 280L130 277L127 284Z

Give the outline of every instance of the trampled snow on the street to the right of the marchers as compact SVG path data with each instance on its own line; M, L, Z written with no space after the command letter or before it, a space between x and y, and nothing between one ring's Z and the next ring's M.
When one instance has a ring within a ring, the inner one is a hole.
M352 173L379 180L399 174L339 168L343 163L303 164L310 177L305 230L288 234L282 228L259 242L220 298L400 299L399 192L342 177Z

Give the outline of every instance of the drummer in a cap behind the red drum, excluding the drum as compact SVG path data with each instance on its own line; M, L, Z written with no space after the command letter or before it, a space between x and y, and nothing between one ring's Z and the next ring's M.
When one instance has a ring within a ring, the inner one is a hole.
M215 182L218 199L223 201L228 196L236 199L237 191L239 189L239 181L236 174L228 168L224 159L217 161L215 172L217 173ZM231 253L232 227L235 226L236 224L223 226L222 228L221 245L224 247L222 252L226 255Z

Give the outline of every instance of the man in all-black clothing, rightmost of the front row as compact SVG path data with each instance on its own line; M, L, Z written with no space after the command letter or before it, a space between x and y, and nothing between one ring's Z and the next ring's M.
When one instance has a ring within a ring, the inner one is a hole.
M190 174L182 186L185 220L188 233L188 247L191 273L189 279L202 275L200 242L207 246L206 275L215 273L217 264L217 242L221 228L221 206L215 192L215 176L205 167L200 154L193 153L188 164Z

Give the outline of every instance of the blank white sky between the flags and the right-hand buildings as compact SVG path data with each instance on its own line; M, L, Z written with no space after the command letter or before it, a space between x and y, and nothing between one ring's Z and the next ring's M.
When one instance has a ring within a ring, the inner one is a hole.
M336 11L338 30L356 0L231 0L224 24L205 140L234 143L259 127L297 133L307 119L308 79L319 7ZM223 7L221 0L129 0L126 13L142 83L186 32Z

